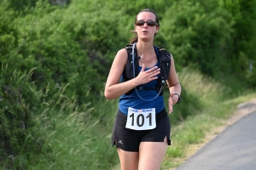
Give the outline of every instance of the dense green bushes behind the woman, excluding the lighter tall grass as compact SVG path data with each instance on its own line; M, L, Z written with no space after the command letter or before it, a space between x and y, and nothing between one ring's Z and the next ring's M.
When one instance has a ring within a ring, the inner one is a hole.
M55 94L55 110L66 99L73 101L70 111L98 105L113 57L129 43L143 8L159 14L155 45L172 53L177 71L193 67L236 89L233 94L255 88L256 0L3 0L0 166L27 169L29 153L42 151L35 117ZM186 88L183 96L200 107ZM93 115L106 123L103 114ZM181 109L178 119L186 116L189 108ZM9 161L15 156L24 156L22 163Z

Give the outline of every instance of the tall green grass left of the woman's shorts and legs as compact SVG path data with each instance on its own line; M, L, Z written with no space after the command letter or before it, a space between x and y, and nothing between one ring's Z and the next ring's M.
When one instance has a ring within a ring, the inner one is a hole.
M45 136L43 149L35 157L37 165L29 169L109 169L117 164L110 145L115 112L110 112L111 105L116 110L116 101L102 99L97 110L87 105L84 111L76 111L67 99L60 111L46 108L38 116L42 122L38 130ZM95 110L101 113L98 119L91 116Z

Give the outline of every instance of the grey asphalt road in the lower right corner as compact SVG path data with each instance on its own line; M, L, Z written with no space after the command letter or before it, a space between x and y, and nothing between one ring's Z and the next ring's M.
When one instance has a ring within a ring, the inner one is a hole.
M256 111L227 127L176 170L256 170Z

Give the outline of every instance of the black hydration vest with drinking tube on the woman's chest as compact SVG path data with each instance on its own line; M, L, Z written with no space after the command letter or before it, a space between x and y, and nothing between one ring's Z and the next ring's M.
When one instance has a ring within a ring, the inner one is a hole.
M132 46L133 44L129 44L125 46L125 49L128 54L128 59L125 65L125 70L123 72L123 79L121 82L126 82L131 80L133 77L133 64L132 64ZM172 54L170 54L165 48L160 48L154 46L154 51L157 55L157 59L159 61L159 67L160 67L160 74L157 79L157 85L155 88L148 88L148 87L137 87L137 89L143 89L143 90L155 90L158 93L160 92L160 95L163 94L163 87L167 87L166 80L169 78L169 73L171 69L171 57ZM135 77L137 77L139 71L139 64L138 64L138 59L137 57L137 48L135 46L134 49L134 66L135 66ZM126 93L126 95L130 95L134 92L134 88L131 89L129 92Z

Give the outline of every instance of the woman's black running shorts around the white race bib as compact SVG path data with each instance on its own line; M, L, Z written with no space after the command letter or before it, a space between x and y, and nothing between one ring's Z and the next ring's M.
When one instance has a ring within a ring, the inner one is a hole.
M125 127L127 116L118 111L113 125L112 146L115 144L121 150L137 152L141 142L164 142L165 138L167 138L168 145L171 145L171 123L166 109L155 116L156 127L154 129L132 130Z

